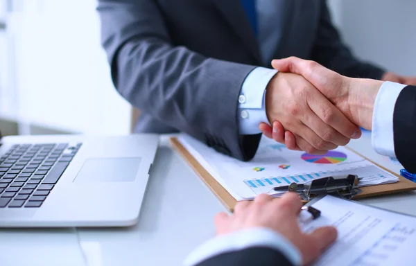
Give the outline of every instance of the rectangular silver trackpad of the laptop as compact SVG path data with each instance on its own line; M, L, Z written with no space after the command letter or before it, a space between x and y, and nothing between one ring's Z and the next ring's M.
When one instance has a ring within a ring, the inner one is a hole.
M87 159L73 182L135 181L141 158Z

